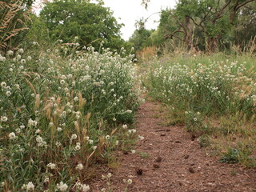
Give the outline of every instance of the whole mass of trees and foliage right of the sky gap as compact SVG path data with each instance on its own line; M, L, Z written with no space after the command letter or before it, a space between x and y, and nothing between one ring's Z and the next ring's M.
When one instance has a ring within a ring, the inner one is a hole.
M234 41L244 47L256 35L254 7L253 0L180 0L173 10L162 10L154 45L168 46L166 39L174 38L191 50L229 49Z

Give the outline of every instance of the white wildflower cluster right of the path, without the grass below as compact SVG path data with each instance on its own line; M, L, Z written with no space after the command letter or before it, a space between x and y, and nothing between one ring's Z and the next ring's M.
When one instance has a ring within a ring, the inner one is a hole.
M158 98L186 110L223 114L242 108L248 113L256 104L256 82L245 66L229 60L190 66L158 63L148 77Z

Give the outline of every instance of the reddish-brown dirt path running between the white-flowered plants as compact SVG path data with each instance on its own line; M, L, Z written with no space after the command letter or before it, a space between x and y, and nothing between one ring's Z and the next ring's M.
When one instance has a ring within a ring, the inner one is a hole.
M218 163L182 127L161 126L160 108L147 101L138 111L136 129L145 139L138 142L136 154L120 153L121 166L110 170L114 192L124 191L122 180L127 178L133 181L132 192L256 191L255 170ZM92 190L101 191L104 185L96 179Z

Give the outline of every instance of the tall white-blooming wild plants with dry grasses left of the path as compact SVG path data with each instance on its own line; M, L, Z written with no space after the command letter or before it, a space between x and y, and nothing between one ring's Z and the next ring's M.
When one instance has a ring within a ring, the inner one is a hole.
M134 120L134 55L39 48L0 57L0 191L88 191L87 167Z

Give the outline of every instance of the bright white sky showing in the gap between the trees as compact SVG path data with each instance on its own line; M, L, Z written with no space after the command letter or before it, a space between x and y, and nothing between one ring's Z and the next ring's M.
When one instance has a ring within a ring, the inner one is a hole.
M37 2L42 0L37 0ZM173 8L175 0L151 0L147 10L141 5L142 0L104 0L105 6L114 11L114 17L118 23L123 23L121 33L122 38L128 40L134 33L135 22L140 18L148 18L151 14L158 13L167 7ZM38 9L36 9L38 10ZM38 11L36 11L38 12ZM159 14L152 15L146 22L146 29L156 29L158 26Z

